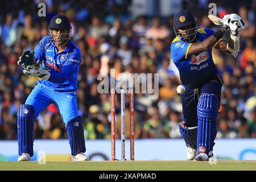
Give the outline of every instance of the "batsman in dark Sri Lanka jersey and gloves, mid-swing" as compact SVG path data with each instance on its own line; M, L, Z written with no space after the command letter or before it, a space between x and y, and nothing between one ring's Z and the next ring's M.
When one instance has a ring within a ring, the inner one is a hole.
M171 44L171 55L185 87L180 94L184 121L179 129L188 147L187 160L205 161L213 155L222 80L213 63L212 48L236 57L240 47L238 31L244 25L240 16L225 15L221 23L220 30L214 32L197 29L189 11L180 11L174 17L176 38ZM227 42L222 36L229 30Z

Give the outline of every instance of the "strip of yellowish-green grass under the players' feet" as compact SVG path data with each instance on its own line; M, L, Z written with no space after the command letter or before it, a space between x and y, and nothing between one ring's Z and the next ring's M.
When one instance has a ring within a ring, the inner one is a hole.
M256 160L209 162L187 161L88 161L88 162L0 162L0 170L85 170L85 171L173 171L173 170L253 170L256 171Z

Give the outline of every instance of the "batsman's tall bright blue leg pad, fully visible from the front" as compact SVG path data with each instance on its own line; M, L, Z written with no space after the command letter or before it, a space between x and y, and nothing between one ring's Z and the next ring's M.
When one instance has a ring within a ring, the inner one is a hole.
M197 154L209 154L217 134L218 98L214 94L202 94L197 104L198 130Z

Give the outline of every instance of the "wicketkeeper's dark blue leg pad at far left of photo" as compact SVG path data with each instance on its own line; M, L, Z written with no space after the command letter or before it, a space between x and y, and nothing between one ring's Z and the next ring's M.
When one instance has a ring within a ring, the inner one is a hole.
M20 105L17 111L17 126L18 126L18 148L19 155L27 153L30 156L34 155L34 117L35 110L31 105Z

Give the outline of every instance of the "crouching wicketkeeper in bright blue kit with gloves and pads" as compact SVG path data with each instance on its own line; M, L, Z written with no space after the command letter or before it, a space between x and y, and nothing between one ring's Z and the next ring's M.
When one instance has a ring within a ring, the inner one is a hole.
M18 161L31 160L34 155L34 119L49 104L55 104L60 111L73 157L79 161L87 160L76 96L81 53L70 40L71 32L71 23L66 16L53 16L49 35L40 40L35 52L24 52L18 61L24 74L42 78L18 109Z

